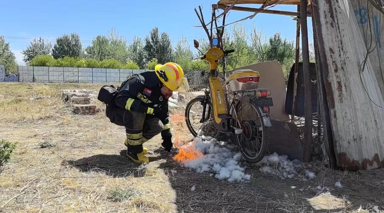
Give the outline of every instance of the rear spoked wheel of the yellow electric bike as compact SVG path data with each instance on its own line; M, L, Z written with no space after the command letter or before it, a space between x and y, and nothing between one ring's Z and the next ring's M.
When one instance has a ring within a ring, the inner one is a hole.
M232 113L233 126L241 128L242 134L235 134L243 156L249 162L263 159L268 147L268 133L258 107L249 103L249 96L242 97L236 105L237 118ZM240 123L240 124L239 124Z

